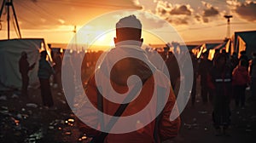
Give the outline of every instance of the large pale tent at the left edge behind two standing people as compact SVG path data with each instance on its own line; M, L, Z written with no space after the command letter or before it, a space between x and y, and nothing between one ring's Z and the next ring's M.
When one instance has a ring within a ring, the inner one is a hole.
M36 62L36 66L28 75L29 85L38 87L38 60L42 49L49 50L43 38L0 40L0 89L21 88L19 60L22 51L27 53L30 65Z

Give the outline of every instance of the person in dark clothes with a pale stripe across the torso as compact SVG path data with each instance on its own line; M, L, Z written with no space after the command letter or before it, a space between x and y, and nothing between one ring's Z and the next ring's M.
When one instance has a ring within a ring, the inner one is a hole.
M214 102L212 120L216 135L221 135L221 126L223 134L230 125L230 91L232 87L232 72L226 66L226 56L217 54L210 74L208 74L208 86L214 91Z

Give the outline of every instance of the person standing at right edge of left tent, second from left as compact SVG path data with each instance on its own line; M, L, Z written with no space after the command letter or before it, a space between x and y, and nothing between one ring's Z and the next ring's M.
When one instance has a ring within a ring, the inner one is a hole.
M47 52L41 52L41 59L39 60L38 77L41 85L41 96L43 105L51 107L54 105L52 94L49 86L49 77L54 73L53 68L46 60Z

